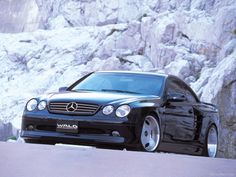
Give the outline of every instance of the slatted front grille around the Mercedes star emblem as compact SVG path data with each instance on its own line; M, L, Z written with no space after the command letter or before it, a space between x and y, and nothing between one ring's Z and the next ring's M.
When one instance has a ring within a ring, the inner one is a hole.
M68 110L70 103L76 103L74 110ZM49 112L58 114L69 114L69 115L94 115L99 109L99 105L90 103L78 103L78 102L50 102Z

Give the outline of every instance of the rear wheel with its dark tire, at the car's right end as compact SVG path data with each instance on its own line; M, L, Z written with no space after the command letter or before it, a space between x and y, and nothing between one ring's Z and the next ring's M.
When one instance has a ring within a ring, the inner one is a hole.
M218 149L218 132L216 126L211 125L207 131L205 146L202 155L214 158L216 157L217 149Z

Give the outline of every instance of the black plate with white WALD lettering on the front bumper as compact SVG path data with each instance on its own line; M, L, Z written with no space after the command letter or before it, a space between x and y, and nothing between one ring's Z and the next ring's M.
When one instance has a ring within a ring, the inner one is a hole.
M58 120L56 125L57 132L63 133L78 133L78 121L73 120Z

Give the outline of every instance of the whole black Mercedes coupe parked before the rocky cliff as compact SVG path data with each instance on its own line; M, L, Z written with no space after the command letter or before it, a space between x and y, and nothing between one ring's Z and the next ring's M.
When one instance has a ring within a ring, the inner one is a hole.
M90 73L58 93L28 101L21 137L28 143L79 144L215 157L217 108L181 79L164 74Z

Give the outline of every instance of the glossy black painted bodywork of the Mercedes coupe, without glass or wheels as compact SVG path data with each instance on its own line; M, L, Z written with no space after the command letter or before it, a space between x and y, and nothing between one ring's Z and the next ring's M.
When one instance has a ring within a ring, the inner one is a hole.
M21 136L26 140L37 140L38 142L137 147L140 144L139 137L144 117L152 114L158 118L161 126L159 151L201 155L209 126L214 124L219 127L219 116L216 107L200 102L191 88L177 77L163 76L165 81L170 78L176 79L188 87L196 98L196 103L168 101L167 82L163 85L160 97L127 93L86 91L76 93L68 91L89 75L72 84L65 92L52 93L37 99L46 100L48 103L55 100L79 100L80 102L96 103L100 107L95 115L72 116L53 114L48 109L32 112L25 109ZM101 110L107 104L112 104L115 108L119 105L129 104L131 112L124 118L117 118L114 112L109 116L105 116ZM78 121L79 133L56 132L57 120ZM35 129L33 131L28 130L28 125L34 125ZM113 130L119 131L120 137L111 136Z

